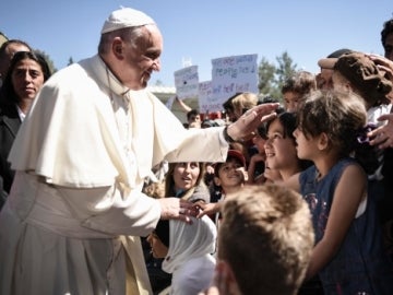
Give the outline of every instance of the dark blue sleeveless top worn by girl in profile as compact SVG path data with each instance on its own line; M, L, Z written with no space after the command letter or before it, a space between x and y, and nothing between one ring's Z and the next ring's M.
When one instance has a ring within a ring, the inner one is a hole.
M300 192L312 215L315 244L324 235L336 185L349 165L358 164L343 158L320 180L315 166L299 176ZM373 198L367 198L366 211L354 219L338 251L319 273L324 294L393 294L393 262L382 243Z

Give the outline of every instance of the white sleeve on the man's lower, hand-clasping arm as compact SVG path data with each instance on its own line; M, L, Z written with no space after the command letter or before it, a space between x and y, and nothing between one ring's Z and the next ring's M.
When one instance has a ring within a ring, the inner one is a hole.
M81 226L114 235L146 236L160 217L157 200L139 190L112 187L59 188Z

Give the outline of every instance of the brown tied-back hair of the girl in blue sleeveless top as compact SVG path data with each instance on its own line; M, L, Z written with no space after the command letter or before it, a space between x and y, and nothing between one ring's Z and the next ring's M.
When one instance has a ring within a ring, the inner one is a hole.
M305 137L324 132L330 146L337 149L341 157L354 155L366 173L371 174L379 165L377 148L358 141L366 122L365 103L356 93L317 91L298 110L298 128Z

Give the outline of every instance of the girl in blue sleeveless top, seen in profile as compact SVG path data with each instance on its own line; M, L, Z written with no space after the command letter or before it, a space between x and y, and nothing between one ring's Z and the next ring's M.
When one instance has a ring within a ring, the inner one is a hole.
M298 110L298 157L314 163L287 180L309 203L315 246L307 278L325 294L393 294L393 268L382 248L367 175L352 157L367 121L353 93L313 93Z

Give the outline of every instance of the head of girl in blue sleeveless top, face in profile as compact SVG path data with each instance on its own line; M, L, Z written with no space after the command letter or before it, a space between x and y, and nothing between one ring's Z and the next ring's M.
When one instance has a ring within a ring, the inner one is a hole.
M298 127L294 132L298 156L313 160L311 140L314 140L314 150L334 151L338 156L347 156L366 122L365 104L355 93L314 92L298 111Z

